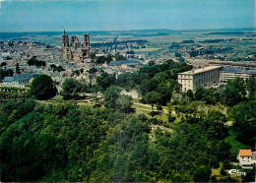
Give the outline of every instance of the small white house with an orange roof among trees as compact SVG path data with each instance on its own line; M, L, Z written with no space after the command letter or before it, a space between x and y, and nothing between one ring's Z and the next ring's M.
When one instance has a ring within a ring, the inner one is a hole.
M239 165L242 167L255 165L255 152L251 152L251 150L239 150L237 160L239 160Z

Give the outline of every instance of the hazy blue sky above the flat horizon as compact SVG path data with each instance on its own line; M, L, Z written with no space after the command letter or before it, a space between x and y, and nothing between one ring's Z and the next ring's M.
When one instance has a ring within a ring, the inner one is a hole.
M0 0L0 32L255 29L256 0Z

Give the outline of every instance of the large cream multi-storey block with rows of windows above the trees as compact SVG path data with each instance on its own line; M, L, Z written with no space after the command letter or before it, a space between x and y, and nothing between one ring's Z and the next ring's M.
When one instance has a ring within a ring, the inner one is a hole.
M207 66L183 73L178 73L178 83L182 91L196 91L199 86L210 87L218 85L222 66Z

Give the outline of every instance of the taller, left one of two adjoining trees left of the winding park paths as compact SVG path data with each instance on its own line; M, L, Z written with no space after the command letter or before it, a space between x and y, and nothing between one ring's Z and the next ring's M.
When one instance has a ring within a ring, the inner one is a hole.
M106 108L116 109L118 107L117 99L120 96L121 90L115 86L109 87L104 93L104 106Z

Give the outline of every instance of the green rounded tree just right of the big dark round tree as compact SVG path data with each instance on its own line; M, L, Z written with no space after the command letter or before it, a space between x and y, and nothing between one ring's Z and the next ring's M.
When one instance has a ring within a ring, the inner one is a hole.
M64 99L77 99L79 96L79 92L82 90L82 85L79 81L74 78L66 79L61 85L62 91L61 95L63 95Z

